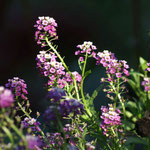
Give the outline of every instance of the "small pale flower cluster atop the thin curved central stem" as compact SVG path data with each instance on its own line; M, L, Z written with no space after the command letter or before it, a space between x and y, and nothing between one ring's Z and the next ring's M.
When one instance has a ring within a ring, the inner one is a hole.
M81 45L77 45L77 48L79 48L80 50L75 51L75 55L81 55L81 57L79 58L79 60L82 62L84 61L84 54L88 54L91 55L95 58L96 57L96 53L95 50L97 49L95 45L93 45L92 42L84 42Z

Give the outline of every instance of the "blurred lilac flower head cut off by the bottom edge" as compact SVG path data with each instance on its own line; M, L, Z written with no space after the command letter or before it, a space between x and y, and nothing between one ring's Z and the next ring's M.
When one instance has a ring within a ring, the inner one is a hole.
M26 141L28 143L29 150L41 150L40 147L42 145L41 140L37 136L26 135Z

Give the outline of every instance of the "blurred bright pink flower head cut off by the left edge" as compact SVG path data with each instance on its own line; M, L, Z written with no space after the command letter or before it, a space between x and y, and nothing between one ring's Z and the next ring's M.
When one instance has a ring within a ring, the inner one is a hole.
M0 108L10 107L14 103L14 95L11 90L0 86Z

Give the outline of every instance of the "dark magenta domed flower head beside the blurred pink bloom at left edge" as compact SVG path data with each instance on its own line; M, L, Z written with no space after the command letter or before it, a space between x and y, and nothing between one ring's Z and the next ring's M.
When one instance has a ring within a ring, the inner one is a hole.
M27 85L23 79L14 77L13 79L8 79L8 83L5 85L9 88L16 97L23 100L27 100Z

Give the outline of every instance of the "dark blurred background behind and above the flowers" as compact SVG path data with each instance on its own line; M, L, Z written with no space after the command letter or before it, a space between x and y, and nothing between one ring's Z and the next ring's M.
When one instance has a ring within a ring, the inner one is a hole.
M0 84L14 76L24 79L32 107L43 108L44 82L35 61L41 48L34 41L33 28L38 16L53 17L58 23L57 44L71 71L78 70L74 52L83 41L93 41L98 51L108 49L136 68L139 56L150 56L149 6L149 0L1 0ZM85 83L90 94L104 74L94 66ZM102 93L96 102L97 109L105 103Z

